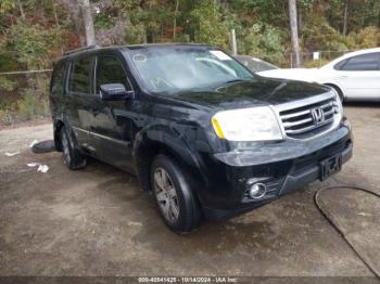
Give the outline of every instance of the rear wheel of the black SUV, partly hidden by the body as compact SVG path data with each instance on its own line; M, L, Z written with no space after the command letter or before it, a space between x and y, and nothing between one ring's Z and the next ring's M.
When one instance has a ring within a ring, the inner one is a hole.
M72 170L86 167L86 157L74 146L73 139L65 127L61 128L60 139L63 163Z

